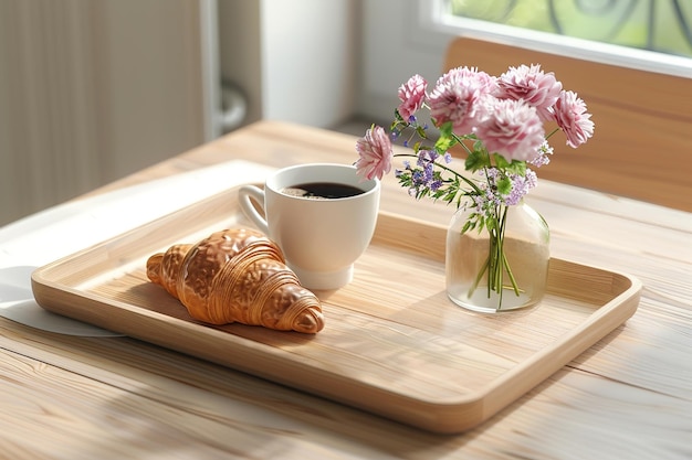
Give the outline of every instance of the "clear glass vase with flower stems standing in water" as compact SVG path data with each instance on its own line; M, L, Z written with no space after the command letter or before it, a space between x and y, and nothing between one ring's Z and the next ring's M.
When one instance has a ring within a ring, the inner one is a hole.
M447 233L449 298L460 307L481 312L538 303L547 287L551 259L545 220L521 202L500 206L497 225L490 232L486 227L462 232L471 212L459 208Z

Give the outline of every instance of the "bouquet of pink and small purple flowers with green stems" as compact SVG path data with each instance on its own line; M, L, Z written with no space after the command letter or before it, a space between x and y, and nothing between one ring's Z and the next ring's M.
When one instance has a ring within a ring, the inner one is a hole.
M523 205L523 197L536 186L532 168L551 161L548 139L562 131L567 146L577 148L594 133L591 115L577 94L564 90L539 65L510 67L497 77L458 67L442 75L430 92L426 79L413 75L398 96L390 132L374 125L358 139L358 174L381 179L391 171L395 157L411 158L396 169L409 194L455 204L464 212L459 234L487 234L484 260L466 293L473 295L483 282L485 296L501 310L505 290L516 297L524 290L505 250L512 224L508 211ZM395 154L397 139L412 151ZM465 153L461 171L451 164L454 147ZM450 264L455 263L450 260L449 245L448 237L448 293ZM547 276L547 268L541 276Z

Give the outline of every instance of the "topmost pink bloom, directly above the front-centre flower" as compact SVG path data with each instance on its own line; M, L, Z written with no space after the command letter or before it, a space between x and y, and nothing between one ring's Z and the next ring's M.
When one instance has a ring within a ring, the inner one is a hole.
M562 89L562 83L555 79L552 72L546 74L539 65L528 67L522 64L518 67L510 67L497 78L495 96L500 99L524 100L534 106L541 120L545 121L552 119L549 108L557 100Z

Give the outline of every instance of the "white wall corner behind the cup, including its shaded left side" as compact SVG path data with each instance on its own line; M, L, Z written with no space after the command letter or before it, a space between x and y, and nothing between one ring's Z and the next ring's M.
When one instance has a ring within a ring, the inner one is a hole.
M355 110L358 2L220 0L221 73L248 97L247 122L331 127Z

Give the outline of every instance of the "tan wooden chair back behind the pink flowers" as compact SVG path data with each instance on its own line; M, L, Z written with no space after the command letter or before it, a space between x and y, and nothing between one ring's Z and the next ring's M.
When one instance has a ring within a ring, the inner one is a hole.
M596 125L578 149L555 135L542 179L692 212L692 79L599 64L506 44L459 38L444 68L479 67L500 75L541 64L576 92Z

